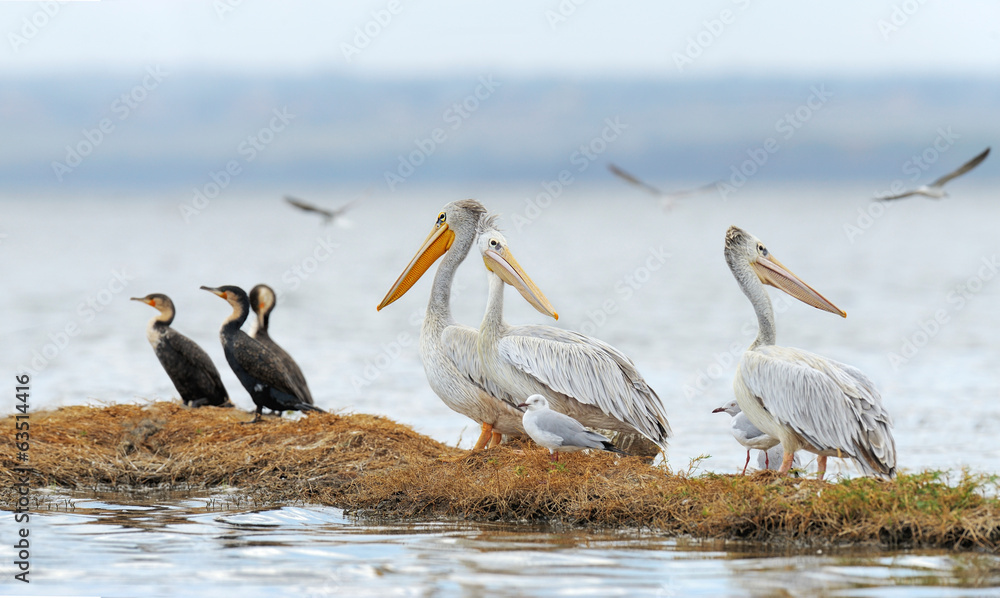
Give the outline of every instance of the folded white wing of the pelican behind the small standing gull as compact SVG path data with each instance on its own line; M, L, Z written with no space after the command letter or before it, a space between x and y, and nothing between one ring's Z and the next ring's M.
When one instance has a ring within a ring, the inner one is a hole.
M670 436L660 397L614 347L560 328L517 326L498 349L500 359L553 391L594 405L649 438Z

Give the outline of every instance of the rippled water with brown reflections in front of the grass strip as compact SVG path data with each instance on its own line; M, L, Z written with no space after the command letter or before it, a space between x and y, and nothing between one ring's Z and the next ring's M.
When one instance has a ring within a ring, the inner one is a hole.
M77 497L73 510L33 517L32 590L238 591L247 598L1000 596L992 589L1000 586L1000 558L985 554L769 551L635 531L384 523L314 506L215 510L224 497L106 499Z

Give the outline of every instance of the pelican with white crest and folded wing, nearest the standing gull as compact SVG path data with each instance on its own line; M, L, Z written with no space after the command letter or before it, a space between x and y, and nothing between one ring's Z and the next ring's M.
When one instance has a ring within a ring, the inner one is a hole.
M483 221L479 250L490 281L479 328L479 357L486 377L508 395L542 395L554 410L585 426L638 432L666 450L670 436L666 410L632 360L577 332L508 326L503 319L504 284L517 289L542 314L556 319L558 314L514 259L492 217Z

